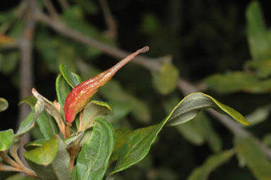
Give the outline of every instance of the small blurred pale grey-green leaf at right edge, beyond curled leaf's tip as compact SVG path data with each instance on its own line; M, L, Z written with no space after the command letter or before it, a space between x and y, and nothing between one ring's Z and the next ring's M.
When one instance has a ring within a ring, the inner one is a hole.
M262 123L262 121L266 120L270 114L271 105L261 106L256 108L252 113L245 118L250 122L250 125L256 125L258 123Z

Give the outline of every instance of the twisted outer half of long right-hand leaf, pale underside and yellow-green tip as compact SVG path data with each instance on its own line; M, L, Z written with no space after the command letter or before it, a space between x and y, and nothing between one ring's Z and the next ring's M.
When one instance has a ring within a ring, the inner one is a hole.
M197 113L204 108L214 108L216 111L219 111L219 113L228 114L231 116L231 118L237 120L239 123L249 125L248 120L246 120L245 117L243 117L236 110L203 93L189 94L182 99L168 119L168 125L185 123L197 116Z

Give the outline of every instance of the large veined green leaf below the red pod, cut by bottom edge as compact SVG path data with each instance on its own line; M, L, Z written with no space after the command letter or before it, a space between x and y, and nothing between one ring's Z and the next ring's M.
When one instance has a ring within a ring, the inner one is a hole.
M77 175L80 180L102 179L114 150L115 132L104 119L96 119L92 137L85 143L77 158Z

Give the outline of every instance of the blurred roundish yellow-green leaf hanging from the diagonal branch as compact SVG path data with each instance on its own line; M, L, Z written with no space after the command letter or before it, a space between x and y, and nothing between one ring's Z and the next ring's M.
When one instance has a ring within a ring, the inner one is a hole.
M161 94L170 94L177 87L179 71L173 64L162 64L159 72L153 72L153 83Z

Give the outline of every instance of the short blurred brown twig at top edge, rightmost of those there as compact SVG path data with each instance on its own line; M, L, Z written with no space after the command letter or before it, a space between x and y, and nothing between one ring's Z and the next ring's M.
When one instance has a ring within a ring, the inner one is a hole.
M117 35L117 26L115 18L112 16L111 11L109 9L109 5L107 4L106 0L99 0L101 4L101 10L104 13L104 19L106 21L106 35L109 35L111 38L116 38Z

